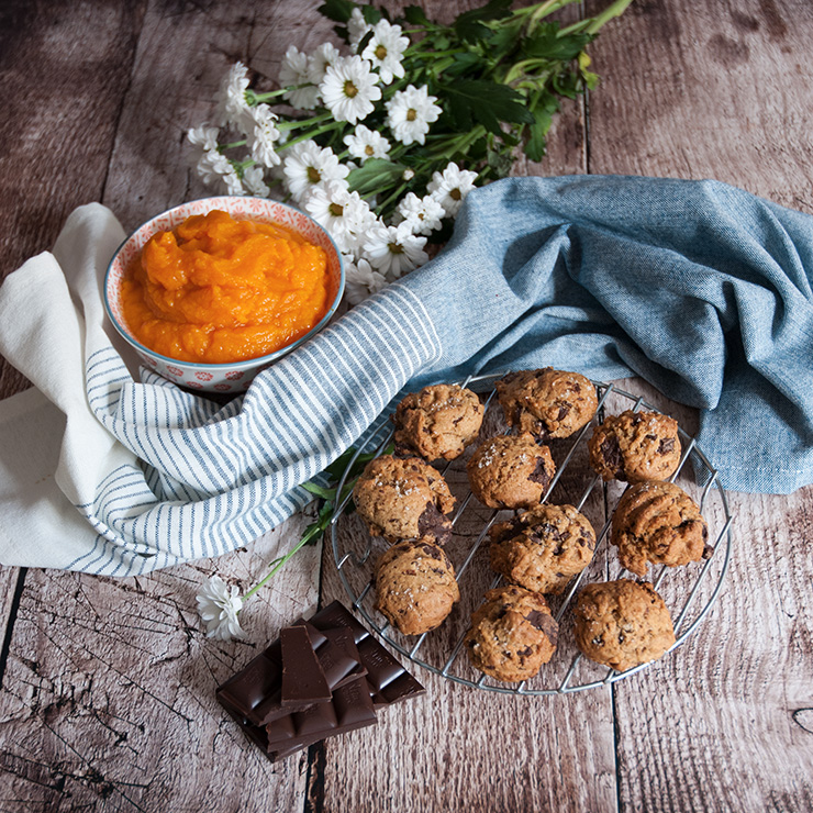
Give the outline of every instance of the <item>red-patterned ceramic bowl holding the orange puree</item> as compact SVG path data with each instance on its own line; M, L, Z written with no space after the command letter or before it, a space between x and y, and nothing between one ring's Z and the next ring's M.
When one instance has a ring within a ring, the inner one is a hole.
M250 218L260 223L279 223L302 235L309 243L322 246L327 255L327 274L330 275L331 304L327 312L304 336L281 347L274 353L258 358L250 358L231 364L193 364L179 361L175 358L162 356L155 350L145 347L133 335L124 321L121 303L121 283L124 270L141 253L149 238L157 232L175 229L192 214L205 214L213 209L222 209L234 218ZM293 207L274 200L260 198L238 198L222 196L204 198L181 203L162 214L148 220L140 226L127 240L119 246L108 266L104 277L104 308L115 330L127 341L138 354L141 361L164 378L181 387L210 392L243 392L248 388L254 377L261 370L270 367L287 353L296 349L302 343L312 338L321 331L335 313L344 292L344 264L342 255L327 232Z

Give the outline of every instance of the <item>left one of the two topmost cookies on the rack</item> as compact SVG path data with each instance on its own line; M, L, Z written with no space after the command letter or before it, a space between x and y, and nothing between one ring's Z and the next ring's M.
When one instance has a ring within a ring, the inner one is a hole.
M396 448L424 460L454 460L477 438L485 412L477 394L457 385L410 392L392 415Z

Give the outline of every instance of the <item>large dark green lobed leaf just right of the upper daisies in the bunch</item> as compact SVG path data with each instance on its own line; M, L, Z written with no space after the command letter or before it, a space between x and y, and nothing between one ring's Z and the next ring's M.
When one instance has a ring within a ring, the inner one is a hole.
M500 122L532 124L534 116L525 107L525 98L508 85L482 79L458 79L443 89L450 118L459 132L471 130L478 121L494 135Z

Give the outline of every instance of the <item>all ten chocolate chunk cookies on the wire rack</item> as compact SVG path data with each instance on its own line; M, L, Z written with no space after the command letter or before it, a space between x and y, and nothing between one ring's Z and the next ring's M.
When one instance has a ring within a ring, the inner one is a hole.
M511 433L479 443L466 472L477 500L514 516L489 528L491 569L505 583L487 592L464 643L477 669L514 682L553 657L558 626L545 597L563 593L597 547L586 516L545 500L556 475L548 442L590 423L598 400L589 379L549 367L511 372L495 390ZM390 543L376 566L376 609L404 635L438 627L459 601L443 547L455 498L431 464L456 459L475 444L483 414L478 396L455 385L406 396L393 415L394 454L370 461L354 488L359 516ZM628 410L598 424L588 449L603 480L630 483L610 537L626 569L643 577L649 563L676 567L708 555L700 509L668 481L681 461L677 421ZM659 658L675 643L669 611L646 581L582 588L573 619L579 649L620 671Z

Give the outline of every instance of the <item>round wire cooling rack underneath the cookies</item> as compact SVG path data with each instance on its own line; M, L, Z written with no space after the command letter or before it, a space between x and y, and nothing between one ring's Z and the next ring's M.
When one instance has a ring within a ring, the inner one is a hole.
M463 382L480 392L486 402L486 420L482 437L505 434L509 428L501 419L501 410L493 402L493 382L500 375L471 377ZM619 672L590 661L576 647L572 635L571 604L580 584L590 581L608 581L623 578L627 571L619 564L615 548L609 543L612 512L625 489L624 483L603 483L590 469L587 460L587 436L604 414L617 414L625 409L658 411L656 408L613 385L592 382L599 399L597 416L575 436L549 442L556 475L542 502L570 503L582 512L597 531L597 545L590 566L582 570L558 597L546 597L554 619L559 624L558 648L550 662L545 664L533 679L520 683L501 683L476 670L463 653L464 636L469 627L471 612L482 602L487 590L497 587L502 577L494 577L489 567L488 545L483 545L491 525L513 512L485 509L471 494L466 479L467 453L441 469L449 488L457 498L457 508L452 516L453 538L444 547L449 556L460 588L460 602L437 628L420 636L404 636L391 627L386 619L374 609L374 575L378 556L387 549L382 539L371 537L360 519L345 514L348 494L336 506L331 520L333 556L342 583L358 611L390 646L414 664L448 680L465 686L506 694L566 694L614 683L650 666L641 666ZM670 651L677 649L698 627L711 610L723 584L732 553L732 515L725 491L717 471L694 442L682 428L678 430L682 455L678 470L670 478L680 479L681 487L700 505L709 524L710 555L704 563L692 563L684 567L661 566L650 581L661 594L671 613L676 642ZM337 493L342 493L348 472L357 457L364 453L375 456L383 454L390 444L394 428L385 422L359 443L339 480ZM687 467L687 464L690 464ZM693 476L688 474L693 470ZM479 555L478 555L479 554ZM630 575L635 578L633 575ZM656 662L656 661L653 661Z

